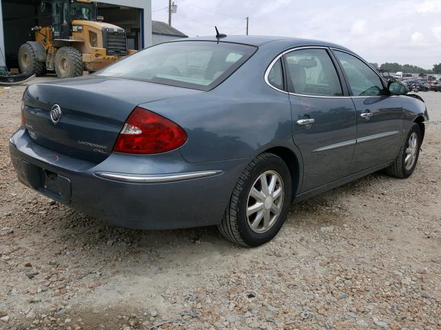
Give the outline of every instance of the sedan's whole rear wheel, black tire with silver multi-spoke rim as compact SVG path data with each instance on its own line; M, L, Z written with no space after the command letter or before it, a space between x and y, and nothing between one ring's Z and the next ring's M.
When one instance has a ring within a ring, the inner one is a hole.
M291 191L291 175L283 159L271 153L258 155L240 175L220 232L244 246L266 243L285 222Z

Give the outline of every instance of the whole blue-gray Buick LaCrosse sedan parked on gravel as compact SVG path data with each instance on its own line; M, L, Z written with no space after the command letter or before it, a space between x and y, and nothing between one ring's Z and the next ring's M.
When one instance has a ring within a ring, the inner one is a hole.
M409 177L427 109L345 47L265 36L163 43L29 86L23 184L130 228L218 225L256 246L289 205L385 169Z

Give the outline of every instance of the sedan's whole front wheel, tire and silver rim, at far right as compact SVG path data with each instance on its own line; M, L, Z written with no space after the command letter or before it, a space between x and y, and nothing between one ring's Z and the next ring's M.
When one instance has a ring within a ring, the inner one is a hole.
M410 177L418 162L421 142L420 126L414 123L409 133L407 133L406 140L400 148L400 153L398 153L395 161L386 168L386 173L400 179Z

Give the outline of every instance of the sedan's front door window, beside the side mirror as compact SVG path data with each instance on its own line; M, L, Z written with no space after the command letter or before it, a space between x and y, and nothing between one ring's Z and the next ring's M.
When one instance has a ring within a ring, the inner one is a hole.
M373 72L373 69L356 56L339 51L335 51L335 54L345 70L353 96L380 96L385 94L381 79Z

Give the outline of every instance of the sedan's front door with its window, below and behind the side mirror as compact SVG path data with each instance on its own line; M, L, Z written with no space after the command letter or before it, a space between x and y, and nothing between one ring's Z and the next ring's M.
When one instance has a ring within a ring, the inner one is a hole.
M378 74L357 56L334 50L357 112L357 144L351 173L395 159L401 139L402 104Z

